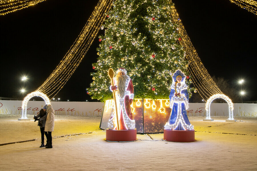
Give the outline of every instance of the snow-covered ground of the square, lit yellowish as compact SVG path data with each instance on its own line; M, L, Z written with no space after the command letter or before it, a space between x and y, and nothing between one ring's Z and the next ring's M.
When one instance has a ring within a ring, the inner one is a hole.
M39 148L37 122L0 115L0 170L257 170L257 118L189 117L195 142L162 141L163 133L137 134L137 141L105 141L101 117L55 116L53 148ZM80 134L82 133L82 134ZM80 134L80 135L75 135Z

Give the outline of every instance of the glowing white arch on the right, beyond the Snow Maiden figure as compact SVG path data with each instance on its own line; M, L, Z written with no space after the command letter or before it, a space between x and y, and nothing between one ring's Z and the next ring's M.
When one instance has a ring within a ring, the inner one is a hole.
M229 110L229 118L228 120L234 120L233 118L233 110L234 110L234 104L232 103L231 99L228 98L228 96L224 94L215 94L212 97L210 97L207 102L205 103L205 110L206 110L206 119L211 119L210 117L210 105L214 99L222 98L228 103L228 110Z

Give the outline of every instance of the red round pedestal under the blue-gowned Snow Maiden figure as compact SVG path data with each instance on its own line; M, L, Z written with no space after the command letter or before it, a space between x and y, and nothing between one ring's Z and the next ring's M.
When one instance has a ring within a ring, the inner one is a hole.
M164 140L173 142L193 142L194 130L190 131L178 131L164 129Z

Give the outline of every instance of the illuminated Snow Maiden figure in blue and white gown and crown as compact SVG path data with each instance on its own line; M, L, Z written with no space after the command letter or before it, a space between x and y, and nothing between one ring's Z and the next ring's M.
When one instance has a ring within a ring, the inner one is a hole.
M194 126L190 124L186 109L188 109L188 92L185 83L185 75L177 70L172 75L172 85L170 91L170 108L171 113L164 129L167 130L193 130Z

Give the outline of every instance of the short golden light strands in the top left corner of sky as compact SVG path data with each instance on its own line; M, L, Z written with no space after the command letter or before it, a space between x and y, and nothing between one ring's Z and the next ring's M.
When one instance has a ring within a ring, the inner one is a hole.
M43 2L45 0L3 0L0 1L0 15L5 15L23 8L36 5L37 3Z

